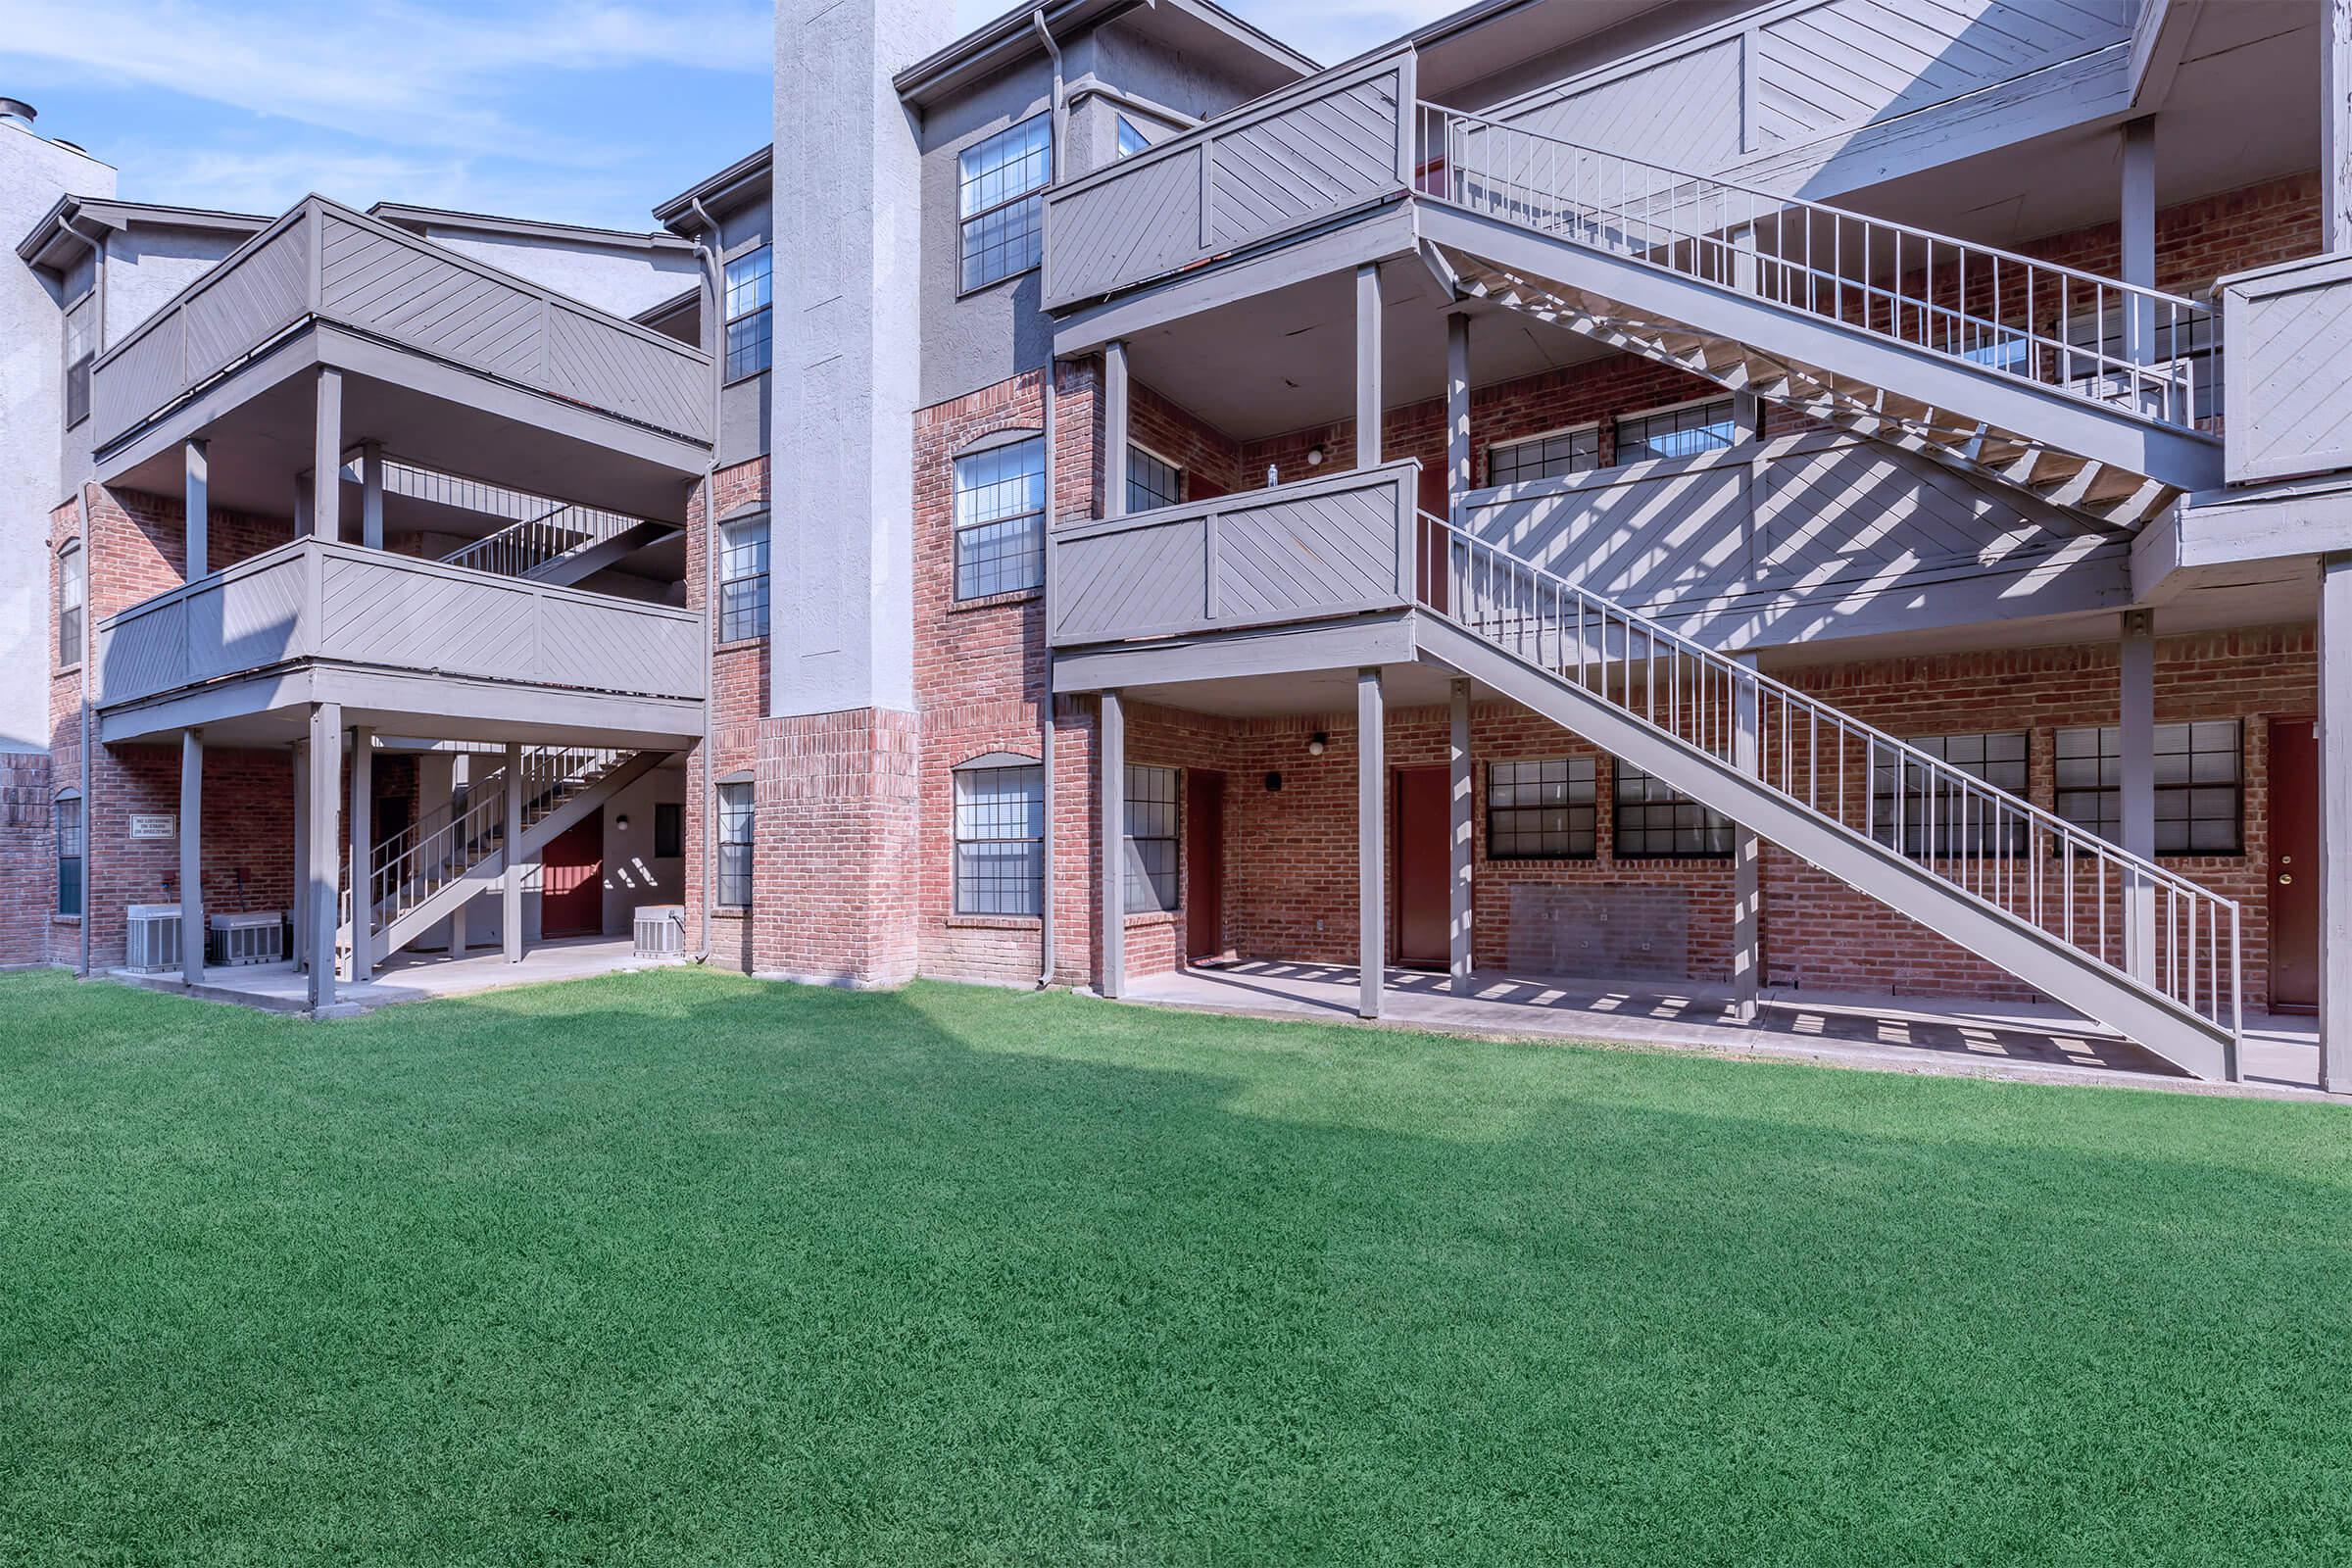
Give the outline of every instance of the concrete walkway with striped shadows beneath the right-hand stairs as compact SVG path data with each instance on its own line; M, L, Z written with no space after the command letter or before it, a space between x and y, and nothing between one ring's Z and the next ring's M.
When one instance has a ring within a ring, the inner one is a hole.
M1129 1001L1263 1018L1355 1018L1357 971L1341 964L1223 964L1136 978ZM2201 1084L2103 1025L2034 1004L1938 997L1764 992L1755 1025L1731 1018L1729 985L1576 980L1479 971L1456 997L1444 976L1388 971L1383 1025L1780 1056L1896 1072L1957 1072L2204 1093L2319 1095L2312 1018L2249 1016L2244 1084ZM2333 1095L2331 1095L2333 1098Z

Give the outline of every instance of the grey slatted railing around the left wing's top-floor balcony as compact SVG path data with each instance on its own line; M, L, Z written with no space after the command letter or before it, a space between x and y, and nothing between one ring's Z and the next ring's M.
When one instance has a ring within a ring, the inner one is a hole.
M315 195L99 357L94 440L113 444L306 320L710 440L710 355Z

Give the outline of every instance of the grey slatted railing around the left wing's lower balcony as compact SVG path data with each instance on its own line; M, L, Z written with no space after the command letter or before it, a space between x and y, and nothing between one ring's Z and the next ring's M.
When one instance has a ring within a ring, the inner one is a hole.
M99 623L99 705L296 661L701 698L703 621L296 538Z

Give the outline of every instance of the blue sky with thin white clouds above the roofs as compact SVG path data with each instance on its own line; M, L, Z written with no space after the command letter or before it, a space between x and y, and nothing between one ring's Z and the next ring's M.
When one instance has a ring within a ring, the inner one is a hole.
M1228 2L1319 61L1454 9ZM1002 9L957 0L957 24ZM0 0L0 94L132 200L644 228L767 134L769 28L760 0Z

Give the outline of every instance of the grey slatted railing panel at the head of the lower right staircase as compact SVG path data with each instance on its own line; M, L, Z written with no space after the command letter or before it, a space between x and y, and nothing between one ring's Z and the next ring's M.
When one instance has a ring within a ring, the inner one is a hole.
M1054 644L1322 621L1414 599L1421 463L1054 529Z

